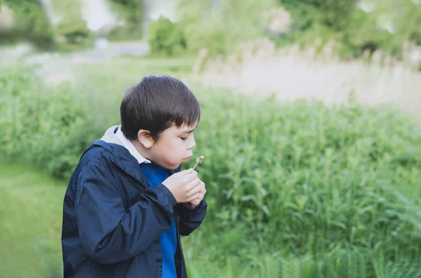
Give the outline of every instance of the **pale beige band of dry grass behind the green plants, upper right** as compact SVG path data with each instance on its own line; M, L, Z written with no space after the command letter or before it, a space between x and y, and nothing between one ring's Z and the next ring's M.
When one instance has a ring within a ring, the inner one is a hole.
M326 46L275 50L266 39L248 43L227 60L208 61L201 74L204 85L228 88L257 97L274 94L279 100L299 98L343 103L352 93L362 104L396 104L421 120L421 74L382 53L372 60L341 61Z

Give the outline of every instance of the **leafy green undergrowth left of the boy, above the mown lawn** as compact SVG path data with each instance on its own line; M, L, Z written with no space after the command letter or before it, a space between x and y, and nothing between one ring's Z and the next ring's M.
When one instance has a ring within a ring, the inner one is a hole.
M103 132L96 118L88 119L86 104L92 99L76 94L69 84L50 88L29 69L2 68L0 90L3 159L67 178L84 148ZM91 132L83 134L86 130Z

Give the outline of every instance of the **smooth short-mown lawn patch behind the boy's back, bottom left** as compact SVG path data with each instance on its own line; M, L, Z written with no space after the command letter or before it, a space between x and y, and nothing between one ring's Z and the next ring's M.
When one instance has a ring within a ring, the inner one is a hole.
M62 277L63 182L17 165L0 177L0 277Z

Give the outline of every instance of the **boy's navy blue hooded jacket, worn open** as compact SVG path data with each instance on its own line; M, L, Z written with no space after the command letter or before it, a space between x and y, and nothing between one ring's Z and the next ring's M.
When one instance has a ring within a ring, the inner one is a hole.
M178 169L170 174L179 172ZM203 221L159 184L149 187L138 161L119 144L94 141L70 179L63 204L64 277L162 277L160 235L175 219L177 277L187 277L180 235Z

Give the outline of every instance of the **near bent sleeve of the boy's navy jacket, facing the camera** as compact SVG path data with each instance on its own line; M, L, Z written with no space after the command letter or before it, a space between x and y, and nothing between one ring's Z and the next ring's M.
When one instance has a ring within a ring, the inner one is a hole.
M83 249L98 263L126 260L168 230L177 204L160 184L147 188L126 211L109 167L89 162L79 174L76 221Z

